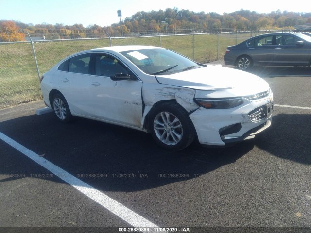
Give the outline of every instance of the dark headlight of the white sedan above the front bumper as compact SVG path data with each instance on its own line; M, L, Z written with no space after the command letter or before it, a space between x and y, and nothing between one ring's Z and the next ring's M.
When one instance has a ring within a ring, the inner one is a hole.
M199 106L209 109L234 108L243 103L241 98L198 98L194 100Z

